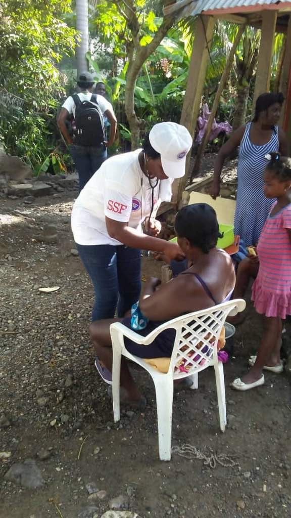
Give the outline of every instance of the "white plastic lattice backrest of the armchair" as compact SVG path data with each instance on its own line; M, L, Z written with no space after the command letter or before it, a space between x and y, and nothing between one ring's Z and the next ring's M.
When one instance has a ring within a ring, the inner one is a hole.
M173 377L181 378L183 373L185 376L194 374L217 362L217 344L225 319L235 309L242 311L244 308L244 300L230 300L179 316L159 327L160 330L176 329L169 367Z

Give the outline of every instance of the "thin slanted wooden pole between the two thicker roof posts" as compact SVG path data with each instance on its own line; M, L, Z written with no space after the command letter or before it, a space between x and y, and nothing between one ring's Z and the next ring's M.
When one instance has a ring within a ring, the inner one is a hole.
M240 42L240 39L241 39L241 37L242 37L242 35L244 33L244 30L245 30L245 24L241 25L239 27L239 30L238 30L238 33L236 35L235 41L234 41L234 43L233 43L233 45L231 47L231 50L230 50L229 55L228 55L228 58L226 60L225 68L224 68L223 74L221 76L219 87L217 88L217 91L216 91L216 94L215 94L215 97L214 97L211 113L210 113L209 119L207 121L206 131L205 131L205 134L203 135L201 144L200 144L200 146L198 148L198 151L197 151L196 160L195 160L195 166L194 166L195 172L197 172L199 170L200 162L201 162L201 157L202 157L202 155L204 153L204 150L205 150L205 148L207 146L207 142L209 140L212 124L214 122L216 111L217 111L217 108L219 106L220 97L221 97L221 94L222 94L222 92L223 92L223 90L225 88L226 81L227 81L227 79L229 77L229 73L230 73L230 70L231 70L231 67L232 67L232 63L234 62L235 52L237 50L238 44Z

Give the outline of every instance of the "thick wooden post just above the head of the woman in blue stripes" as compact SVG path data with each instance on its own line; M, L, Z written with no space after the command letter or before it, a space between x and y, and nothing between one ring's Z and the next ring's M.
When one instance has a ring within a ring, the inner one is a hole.
M278 11L263 11L258 67L254 91L253 113L258 96L268 92L270 89L273 43L277 23L277 12Z

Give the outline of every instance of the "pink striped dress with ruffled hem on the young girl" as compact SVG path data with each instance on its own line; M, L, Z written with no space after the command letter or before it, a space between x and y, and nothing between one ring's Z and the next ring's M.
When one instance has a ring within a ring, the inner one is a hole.
M286 231L290 228L291 203L269 214L257 246L259 271L252 292L258 313L282 319L291 314L291 241Z

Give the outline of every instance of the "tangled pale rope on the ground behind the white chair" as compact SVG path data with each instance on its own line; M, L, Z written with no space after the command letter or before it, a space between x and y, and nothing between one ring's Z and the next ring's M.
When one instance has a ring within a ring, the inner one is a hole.
M224 468L234 468L235 466L238 466L238 463L234 461L231 455L226 455L224 453L214 453L210 449L209 453L207 454L201 450L198 450L198 448L196 448L196 446L192 446L192 444L181 444L180 446L174 446L172 448L172 453L188 459L197 458L200 461L203 461L203 464L209 466L212 469L216 467L216 464L220 464Z

